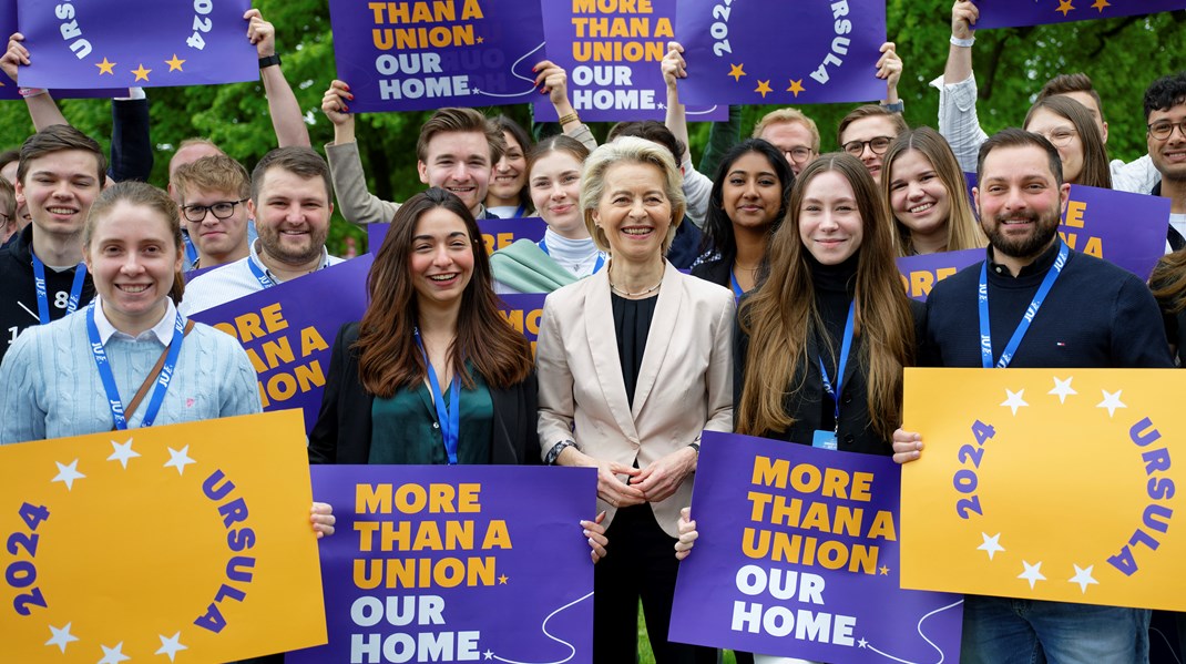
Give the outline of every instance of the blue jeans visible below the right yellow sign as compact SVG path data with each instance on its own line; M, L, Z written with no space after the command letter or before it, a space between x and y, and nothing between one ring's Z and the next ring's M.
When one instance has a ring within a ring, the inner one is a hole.
M1143 608L968 595L962 664L1148 664Z

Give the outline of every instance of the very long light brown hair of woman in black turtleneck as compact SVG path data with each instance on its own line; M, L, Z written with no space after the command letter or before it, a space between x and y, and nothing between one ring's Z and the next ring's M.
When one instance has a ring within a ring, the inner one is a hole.
M888 440L901 420L903 368L914 359L914 323L894 267L881 196L865 165L844 153L823 154L799 173L788 218L770 242L770 276L741 305L741 331L748 334L750 345L737 430L761 435L785 432L795 423L785 400L788 392L803 389L809 363L814 362L804 349L809 336L824 328L816 307L809 253L799 238L799 222L806 187L825 172L848 180L861 215L854 334L861 339L859 366L868 376L869 421Z

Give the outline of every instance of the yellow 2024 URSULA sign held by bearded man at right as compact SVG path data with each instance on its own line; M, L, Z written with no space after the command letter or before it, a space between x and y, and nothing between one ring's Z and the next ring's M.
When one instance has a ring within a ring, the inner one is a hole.
M1182 394L1171 370L907 369L903 587L1186 609Z

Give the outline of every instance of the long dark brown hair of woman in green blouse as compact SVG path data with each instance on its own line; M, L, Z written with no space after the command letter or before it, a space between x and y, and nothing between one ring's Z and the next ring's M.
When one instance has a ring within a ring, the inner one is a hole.
M473 363L486 383L500 389L523 381L531 372L531 346L498 311L498 295L491 287L490 258L478 223L460 198L432 187L413 196L396 211L366 277L370 305L358 326L353 349L358 352L359 381L368 392L378 397L389 398L398 388L415 385L428 375L413 336L420 313L408 257L416 222L435 208L444 208L465 222L473 251L473 274L461 293L457 337L448 350L453 370L471 389L474 382L466 360Z

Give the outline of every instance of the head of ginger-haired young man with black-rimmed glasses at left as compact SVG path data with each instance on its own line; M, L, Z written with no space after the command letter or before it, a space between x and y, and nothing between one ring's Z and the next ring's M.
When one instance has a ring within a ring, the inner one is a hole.
M248 254L251 180L247 168L227 155L203 157L173 173L181 224L198 251L193 269L232 263Z

